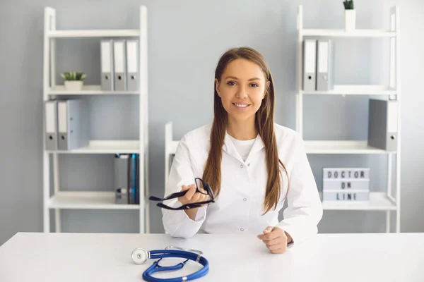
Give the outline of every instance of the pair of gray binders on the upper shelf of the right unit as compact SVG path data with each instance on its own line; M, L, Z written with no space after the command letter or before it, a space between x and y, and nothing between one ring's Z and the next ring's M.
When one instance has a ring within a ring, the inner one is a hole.
M334 89L334 43L331 39L305 39L303 42L304 91Z

